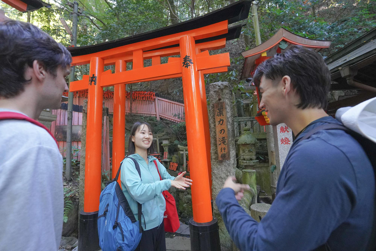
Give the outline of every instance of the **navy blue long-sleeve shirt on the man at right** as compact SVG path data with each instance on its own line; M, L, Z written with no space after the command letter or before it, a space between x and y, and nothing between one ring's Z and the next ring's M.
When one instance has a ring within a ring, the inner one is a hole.
M342 130L300 139L331 117L312 122L294 141L277 185L277 196L260 223L225 188L216 204L241 251L364 250L371 235L375 178L361 146Z

